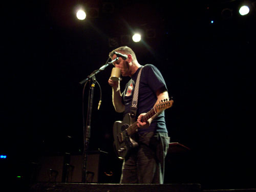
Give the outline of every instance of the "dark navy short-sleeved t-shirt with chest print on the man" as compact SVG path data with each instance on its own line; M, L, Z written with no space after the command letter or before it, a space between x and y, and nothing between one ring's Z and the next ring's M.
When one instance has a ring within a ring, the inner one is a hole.
M132 78L127 82L122 93L122 99L125 105L124 114L129 113L131 110L133 91L139 70L140 68L132 75ZM151 64L145 65L140 76L137 117L141 113L147 113L153 108L157 101L156 91L161 88L167 91L165 81L160 71ZM164 111L152 121L150 127L147 129L138 129L139 134L152 131L167 133Z

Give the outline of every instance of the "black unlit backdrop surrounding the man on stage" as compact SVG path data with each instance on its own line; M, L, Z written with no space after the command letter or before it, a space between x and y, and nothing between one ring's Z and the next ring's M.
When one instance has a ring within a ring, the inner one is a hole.
M103 66L114 48L131 47L141 65L159 68L175 104L165 111L171 142L191 149L166 167L167 183L200 183L206 189L255 188L255 2L242 1L31 1L3 4L1 30L1 160L24 182L31 162L45 154L83 150L79 82ZM97 8L75 16L77 5ZM232 15L222 10L232 9ZM210 21L214 20L211 24ZM148 30L154 29L150 36ZM123 35L142 32L142 41ZM110 44L117 39L117 45ZM113 152L112 125L121 120L108 84L112 67L96 75L90 151ZM127 82L123 78L122 85ZM84 92L87 113L88 85ZM85 114L86 117L86 114ZM178 157L177 157L178 156ZM25 168L24 168L25 167ZM118 177L114 182L118 183Z

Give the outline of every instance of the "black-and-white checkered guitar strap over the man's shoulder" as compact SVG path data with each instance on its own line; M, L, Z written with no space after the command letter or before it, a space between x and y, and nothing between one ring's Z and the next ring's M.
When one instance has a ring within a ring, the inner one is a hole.
M133 100L132 100L132 105L131 105L131 111L130 111L130 123L133 124L136 119L136 113L137 113L137 109L138 109L138 96L139 96L139 84L140 84L140 75L141 75L141 71L143 69L144 66L142 66L140 68L140 71L138 73L138 76L136 78L136 83L135 83L135 88L133 91Z

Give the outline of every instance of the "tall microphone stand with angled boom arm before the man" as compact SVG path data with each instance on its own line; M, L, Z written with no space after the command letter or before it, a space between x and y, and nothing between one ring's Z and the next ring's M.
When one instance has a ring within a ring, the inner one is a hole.
M99 72L103 71L106 67L110 66L111 64L113 64L113 62L115 62L118 59L119 58L116 57L111 62L107 62L104 66L102 66L98 70L95 70L94 72L92 72L92 74L89 75L86 79L79 82L80 84L87 83L88 81L90 82L89 101L88 101L88 110L87 110L87 122L86 122L86 125L84 125L84 123L83 123L82 183L87 182L86 181L86 178L87 178L86 164L87 164L87 156L88 156L88 149L89 149L89 141L90 141L90 137L91 137L91 118L92 118L92 105L93 105L94 87L95 87L95 82L97 82L95 75L98 74ZM86 86L86 84L85 84L85 86Z

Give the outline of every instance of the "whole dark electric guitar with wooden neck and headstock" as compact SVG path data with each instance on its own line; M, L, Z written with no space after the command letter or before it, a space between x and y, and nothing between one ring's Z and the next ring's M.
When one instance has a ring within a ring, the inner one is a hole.
M164 99L147 112L142 122L146 122L158 112L170 108L173 105L173 100ZM119 159L124 159L129 155L132 148L138 146L138 143L131 137L138 132L137 121L130 125L130 116L126 114L123 121L116 121L113 125L114 149Z

